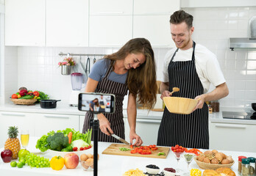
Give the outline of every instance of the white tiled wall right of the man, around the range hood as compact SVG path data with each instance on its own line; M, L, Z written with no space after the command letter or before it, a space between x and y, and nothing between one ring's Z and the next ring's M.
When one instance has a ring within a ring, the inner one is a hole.
M256 102L256 49L229 49L229 37L247 37L256 7L184 8L193 15L193 39L213 51L230 88L222 106Z

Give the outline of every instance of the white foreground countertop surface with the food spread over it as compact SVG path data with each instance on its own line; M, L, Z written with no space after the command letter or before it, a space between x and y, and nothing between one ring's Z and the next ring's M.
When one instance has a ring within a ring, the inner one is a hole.
M35 150L32 146L35 146L36 138L31 138L29 141L28 149L30 151ZM132 157L132 156L121 156L121 155L103 155L102 151L105 150L111 143L109 142L99 142L99 162L98 162L98 175L111 175L111 176L121 176L124 172L127 172L129 169L141 169L143 172L146 172L145 166L148 164L156 164L160 167L160 171L162 171L166 167L173 167L174 169L177 167L177 160L174 157L173 153L169 153L166 159L159 158L143 158L143 157ZM1 149L3 150L3 149ZM204 151L204 150L202 150ZM245 153L245 152L230 152L230 151L219 151L223 152L226 155L231 155L235 160L235 164L231 167L231 169L238 175L238 155L245 155L247 157L256 157L256 153ZM47 154L40 153L39 155L43 155L47 158L49 157ZM187 164L185 160L182 158L179 161L180 169L188 171ZM200 169L195 161L192 161L190 164L190 169ZM203 172L203 169L201 169ZM54 171L51 168L30 168L29 166L24 166L23 168L13 168L10 166L10 163L3 163L0 161L0 172L1 175L5 176L30 176L30 175L93 175L93 171L84 171L82 166L79 164L77 169L66 169L65 166L60 171ZM188 174L185 174L188 175Z

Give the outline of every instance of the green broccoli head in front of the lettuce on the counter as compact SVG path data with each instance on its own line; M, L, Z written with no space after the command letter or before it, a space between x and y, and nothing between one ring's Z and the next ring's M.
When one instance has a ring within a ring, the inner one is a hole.
M68 147L68 136L63 133L54 133L47 138L48 145L51 150L61 151L63 148Z

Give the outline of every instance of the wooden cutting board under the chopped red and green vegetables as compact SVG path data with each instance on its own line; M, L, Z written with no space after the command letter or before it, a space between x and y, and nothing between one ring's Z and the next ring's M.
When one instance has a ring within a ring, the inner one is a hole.
M146 157L146 158L166 158L169 151L170 147L157 147L157 150L152 150L152 154L150 155L141 155L140 153L130 153L129 151L121 151L119 150L120 147L125 147L125 148L130 148L129 145L127 144L110 144L107 149L105 149L102 154L107 154L107 155L127 155L127 156L138 156L138 157ZM166 153L166 155L157 155L157 153Z

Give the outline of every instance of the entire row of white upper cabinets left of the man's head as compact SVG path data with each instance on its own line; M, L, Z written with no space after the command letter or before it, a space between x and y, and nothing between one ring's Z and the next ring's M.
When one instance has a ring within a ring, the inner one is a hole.
M179 0L6 0L5 8L6 45L120 47L145 37L173 47Z

